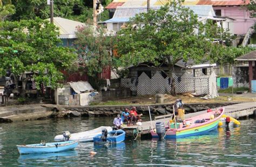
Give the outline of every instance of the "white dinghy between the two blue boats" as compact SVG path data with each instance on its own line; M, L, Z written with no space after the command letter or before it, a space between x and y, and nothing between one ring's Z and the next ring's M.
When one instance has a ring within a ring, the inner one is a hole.
M69 141L80 141L87 142L93 141L93 137L96 135L102 134L102 130L107 129L107 131L111 131L112 128L110 126L100 126L96 129L88 130L85 132L72 133L70 134ZM66 141L64 135L57 135L54 137L54 141Z

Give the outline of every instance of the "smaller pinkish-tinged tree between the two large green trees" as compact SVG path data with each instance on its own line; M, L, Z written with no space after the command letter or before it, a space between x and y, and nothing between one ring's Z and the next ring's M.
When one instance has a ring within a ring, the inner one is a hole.
M85 70L94 79L95 86L98 86L98 75L112 64L111 53L115 37L106 35L105 29L94 26L79 27L76 36L76 67Z

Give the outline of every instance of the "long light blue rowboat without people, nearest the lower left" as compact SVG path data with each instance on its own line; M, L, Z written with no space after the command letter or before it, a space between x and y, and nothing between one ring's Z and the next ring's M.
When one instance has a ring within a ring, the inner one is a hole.
M38 153L56 153L59 151L75 149L78 141L65 141L53 143L38 143L17 145L19 154L38 154Z

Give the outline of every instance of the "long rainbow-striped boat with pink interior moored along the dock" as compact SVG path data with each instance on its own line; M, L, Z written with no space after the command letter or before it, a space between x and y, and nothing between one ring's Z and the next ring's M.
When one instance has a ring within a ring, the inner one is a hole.
M210 111L196 117L188 118L183 122L177 123L176 127L172 124L166 128L165 139L177 139L180 137L196 136L208 134L211 130L217 129L220 118L224 113L224 107ZM153 138L158 138L156 130L150 131Z

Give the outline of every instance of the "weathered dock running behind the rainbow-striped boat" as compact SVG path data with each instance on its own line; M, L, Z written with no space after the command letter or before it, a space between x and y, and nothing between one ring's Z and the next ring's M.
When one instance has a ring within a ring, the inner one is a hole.
M224 107L225 107L224 113L236 119L239 119L240 117L248 117L249 115L256 114L256 102L254 101L249 103L239 103L239 104L234 104L234 105L229 105ZM212 108L212 110L214 109L215 108ZM204 110L200 112L185 114L185 119L195 117L205 112L207 111ZM164 115L161 117L164 117ZM167 124L167 122L169 122L170 119L171 118L152 120L152 125L150 121L146 121L146 122L142 122L141 126L138 126L138 125L127 126L127 127L124 127L123 130L125 130L126 135L128 136L136 136L138 131L139 131L139 136L144 134L150 134L150 130L152 128L156 128L156 122L164 122L165 124Z

